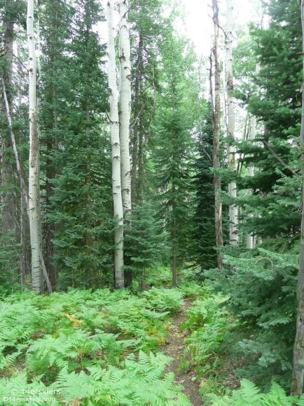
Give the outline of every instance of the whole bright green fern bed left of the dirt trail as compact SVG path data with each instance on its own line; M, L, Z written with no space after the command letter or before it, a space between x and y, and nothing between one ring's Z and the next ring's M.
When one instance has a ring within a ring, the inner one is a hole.
M165 375L171 359L156 354L182 296L157 288L140 296L107 289L11 296L0 305L0 402L191 405ZM22 400L46 388L55 400Z

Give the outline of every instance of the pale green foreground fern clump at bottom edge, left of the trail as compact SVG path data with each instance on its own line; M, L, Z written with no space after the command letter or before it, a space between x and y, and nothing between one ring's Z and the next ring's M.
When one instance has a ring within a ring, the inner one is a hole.
M173 374L164 376L166 364L171 361L163 354L156 356L139 352L138 361L131 354L121 368L88 368L79 374L63 369L56 381L65 401L81 400L83 405L125 404L130 406L151 404L154 406L191 406L181 393L182 387L174 386Z

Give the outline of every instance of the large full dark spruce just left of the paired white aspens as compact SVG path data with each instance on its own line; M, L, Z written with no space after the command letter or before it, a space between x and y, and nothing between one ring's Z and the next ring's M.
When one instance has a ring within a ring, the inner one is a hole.
M112 279L110 145L102 131L105 47L94 30L103 18L99 4L75 2L73 7L72 41L66 48L70 56L62 66L69 89L58 112L60 142L54 154L59 175L48 218L56 227L60 286L89 287Z

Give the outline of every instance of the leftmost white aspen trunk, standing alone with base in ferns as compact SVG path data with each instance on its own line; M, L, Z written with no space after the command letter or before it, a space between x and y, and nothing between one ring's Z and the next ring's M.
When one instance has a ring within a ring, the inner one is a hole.
M31 245L31 270L32 290L41 292L41 270L40 270L40 243L39 243L39 209L37 204L37 188L39 188L38 162L39 162L39 140L37 129L37 105L36 105L36 54L33 29L34 2L27 1L27 41L29 53L28 70L28 98L29 98L29 231Z

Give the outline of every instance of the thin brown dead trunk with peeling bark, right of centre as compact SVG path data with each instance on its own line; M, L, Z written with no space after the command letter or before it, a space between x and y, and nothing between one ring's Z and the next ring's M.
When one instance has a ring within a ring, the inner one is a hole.
M220 167L219 161L219 130L220 130L220 64L219 64L219 32L218 32L218 5L217 0L212 0L213 23L214 23L214 58L215 58L215 97L213 101L212 91L212 56L210 56L210 95L212 105L212 126L213 126L213 154L212 166L215 170ZM213 177L214 195L215 195L215 240L217 248L217 267L223 269L223 256L220 248L223 246L222 229L222 204L221 204L221 182L218 173Z

